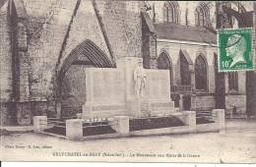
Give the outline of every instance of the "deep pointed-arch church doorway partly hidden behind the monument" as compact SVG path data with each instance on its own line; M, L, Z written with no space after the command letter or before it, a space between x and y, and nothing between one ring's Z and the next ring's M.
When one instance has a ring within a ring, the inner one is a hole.
M86 102L86 70L114 68L115 64L91 40L79 44L61 64L57 72L56 112L58 117L76 117Z

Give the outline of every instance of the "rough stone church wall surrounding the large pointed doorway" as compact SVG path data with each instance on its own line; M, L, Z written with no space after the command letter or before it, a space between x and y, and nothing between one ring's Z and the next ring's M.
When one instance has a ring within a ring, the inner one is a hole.
M96 9L88 0L22 0L15 1L18 15L26 16L26 23L18 30L16 39L21 46L28 46L20 54L19 94L17 118L31 117L33 104L38 105L36 112L45 113L47 98L53 95L53 80L56 70L70 52L81 42L91 39L110 57L107 44L115 59L120 57L141 57L141 7L142 2L96 1ZM21 3L20 3L21 2ZM6 10L2 14L3 8ZM99 17L96 17L96 10ZM26 11L26 12L25 12ZM24 13L23 13L24 12ZM12 52L8 32L7 6L1 8L1 102L10 101L12 93ZM101 20L101 25L98 20ZM20 21L19 21L20 22ZM19 33L19 32L25 33ZM105 32L108 41L103 37ZM28 35L28 36L26 36ZM25 40L20 40L25 37ZM106 43L108 42L108 43ZM2 90L3 89L3 90ZM54 105L54 104L53 104ZM8 113L6 104L3 113ZM54 109L53 106L50 106ZM36 108L36 107L35 107ZM11 111L10 111L11 112ZM6 114L3 116L7 118ZM6 120L6 119L4 119ZM30 118L27 123L30 124ZM5 123L6 121L4 121Z

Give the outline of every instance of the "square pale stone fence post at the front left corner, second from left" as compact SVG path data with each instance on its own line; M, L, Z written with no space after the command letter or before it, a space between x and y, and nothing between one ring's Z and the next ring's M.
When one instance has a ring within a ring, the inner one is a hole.
M67 139L83 139L82 119L66 120L66 137Z

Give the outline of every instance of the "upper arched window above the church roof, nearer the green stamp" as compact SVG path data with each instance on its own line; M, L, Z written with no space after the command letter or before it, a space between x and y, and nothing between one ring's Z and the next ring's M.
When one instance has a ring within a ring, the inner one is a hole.
M205 3L200 3L195 10L195 25L197 27L209 27L210 26L210 12Z

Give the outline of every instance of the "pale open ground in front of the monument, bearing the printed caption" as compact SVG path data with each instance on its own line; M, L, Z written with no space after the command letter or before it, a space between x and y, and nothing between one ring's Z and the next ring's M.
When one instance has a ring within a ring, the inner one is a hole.
M256 121L228 121L225 134L73 141L28 133L4 136L2 145L12 160L255 163Z

